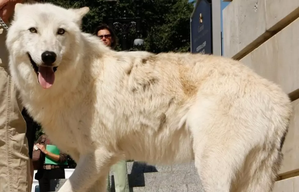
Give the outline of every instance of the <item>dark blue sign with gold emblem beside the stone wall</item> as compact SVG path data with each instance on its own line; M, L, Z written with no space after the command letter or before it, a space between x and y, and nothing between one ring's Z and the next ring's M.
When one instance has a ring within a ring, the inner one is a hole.
M212 3L200 0L191 17L191 53L213 54Z

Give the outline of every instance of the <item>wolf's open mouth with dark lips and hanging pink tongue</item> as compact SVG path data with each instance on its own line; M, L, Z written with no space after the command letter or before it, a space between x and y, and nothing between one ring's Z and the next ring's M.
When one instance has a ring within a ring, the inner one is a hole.
M33 61L31 55L27 53L29 60L31 62L31 66L34 69L37 77L38 83L44 88L50 88L55 80L55 72L57 67L46 67L46 66L37 66L37 64Z

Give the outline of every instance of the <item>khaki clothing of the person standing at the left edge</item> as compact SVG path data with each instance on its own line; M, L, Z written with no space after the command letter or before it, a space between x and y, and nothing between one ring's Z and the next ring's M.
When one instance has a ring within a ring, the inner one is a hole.
M0 192L29 192L26 123L8 71L5 36L0 27Z

